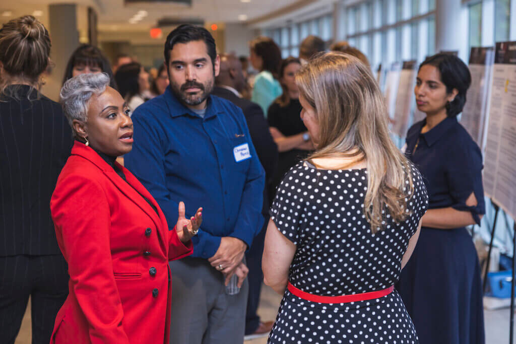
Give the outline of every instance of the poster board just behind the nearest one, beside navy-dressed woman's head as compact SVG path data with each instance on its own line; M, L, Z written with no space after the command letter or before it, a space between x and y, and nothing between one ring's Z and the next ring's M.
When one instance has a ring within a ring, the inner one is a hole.
M467 90L466 104L462 110L460 123L481 149L483 149L486 131L487 103L493 61L493 47L471 48L468 66L471 73L471 86Z

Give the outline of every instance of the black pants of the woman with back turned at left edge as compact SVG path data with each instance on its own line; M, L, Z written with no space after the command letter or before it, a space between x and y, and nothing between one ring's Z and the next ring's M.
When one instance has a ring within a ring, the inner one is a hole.
M68 279L62 255L0 257L0 341L14 343L30 296L32 342L48 344Z

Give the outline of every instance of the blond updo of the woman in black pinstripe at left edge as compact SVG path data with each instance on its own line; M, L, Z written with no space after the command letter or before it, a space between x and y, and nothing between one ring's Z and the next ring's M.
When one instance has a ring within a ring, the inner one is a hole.
M0 29L0 94L10 95L6 94L7 86L21 83L39 90L40 75L49 65L50 47L49 31L32 15L4 24Z

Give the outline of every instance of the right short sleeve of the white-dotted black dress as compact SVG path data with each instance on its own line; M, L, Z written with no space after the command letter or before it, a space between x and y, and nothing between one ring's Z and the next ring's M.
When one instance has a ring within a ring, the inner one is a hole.
M407 210L410 214L410 235L412 236L417 231L417 226L428 209L428 194L420 171L417 170L411 162L409 162L409 167L410 178L412 180L412 194L406 199L406 201ZM407 179L405 183L405 191L407 191L410 187L410 181Z

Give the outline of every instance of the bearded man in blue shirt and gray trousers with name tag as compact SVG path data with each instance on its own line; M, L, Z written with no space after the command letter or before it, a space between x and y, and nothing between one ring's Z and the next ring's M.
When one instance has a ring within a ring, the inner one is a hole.
M125 166L169 224L180 201L188 214L203 207L193 255L170 263L170 342L241 344L248 290L244 252L263 225L265 174L240 108L209 94L220 64L209 32L191 25L174 29L165 43L165 64L170 86L134 112L135 143ZM223 283L233 274L241 289L229 295Z

